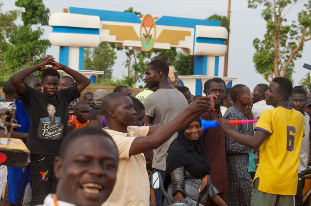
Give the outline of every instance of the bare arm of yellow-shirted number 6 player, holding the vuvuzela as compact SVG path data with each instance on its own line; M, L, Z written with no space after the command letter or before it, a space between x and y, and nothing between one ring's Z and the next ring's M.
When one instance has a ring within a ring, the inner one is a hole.
M233 138L235 141L245 146L252 147L254 149L258 149L260 145L265 141L265 139L267 139L267 137L269 136L268 133L261 130L256 130L254 136L243 135L237 131L232 130L228 120L226 119L217 119L216 122L220 124L221 127L223 127L225 133Z

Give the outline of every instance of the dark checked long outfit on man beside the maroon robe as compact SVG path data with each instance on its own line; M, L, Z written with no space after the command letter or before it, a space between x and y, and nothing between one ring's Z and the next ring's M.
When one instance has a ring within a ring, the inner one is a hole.
M244 114L236 107L228 108L223 116L227 120L245 120ZM247 135L247 125L233 125L231 128ZM248 174L249 152L253 148L244 146L225 134L226 165L228 175L228 206L250 206L252 199L252 179Z

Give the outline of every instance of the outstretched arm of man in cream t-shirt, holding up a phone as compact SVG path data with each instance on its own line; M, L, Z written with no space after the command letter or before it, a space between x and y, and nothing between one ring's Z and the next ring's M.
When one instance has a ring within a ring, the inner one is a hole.
M168 141L175 132L190 125L190 123L206 111L210 111L210 97L204 96L197 98L184 111L178 114L172 121L164 126L158 127L155 132L146 137L137 137L134 139L129 156L156 149Z

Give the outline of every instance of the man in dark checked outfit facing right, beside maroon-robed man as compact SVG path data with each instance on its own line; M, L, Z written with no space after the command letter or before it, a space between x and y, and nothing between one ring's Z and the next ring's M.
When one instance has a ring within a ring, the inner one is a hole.
M232 107L225 111L224 119L245 120L243 111L246 106L252 106L253 95L243 84L234 85L230 92ZM248 127L253 127L249 124ZM247 135L247 126L233 125L232 130ZM248 174L248 153L254 152L251 147L244 146L225 134L226 165L228 175L228 192L226 195L228 206L250 206L252 198L252 179Z

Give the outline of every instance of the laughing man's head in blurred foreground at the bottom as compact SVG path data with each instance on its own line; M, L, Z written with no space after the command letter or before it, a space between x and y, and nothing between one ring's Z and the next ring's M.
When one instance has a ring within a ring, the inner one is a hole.
M43 206L101 206L113 190L118 163L116 144L102 129L73 131L54 161L56 194L49 194Z

